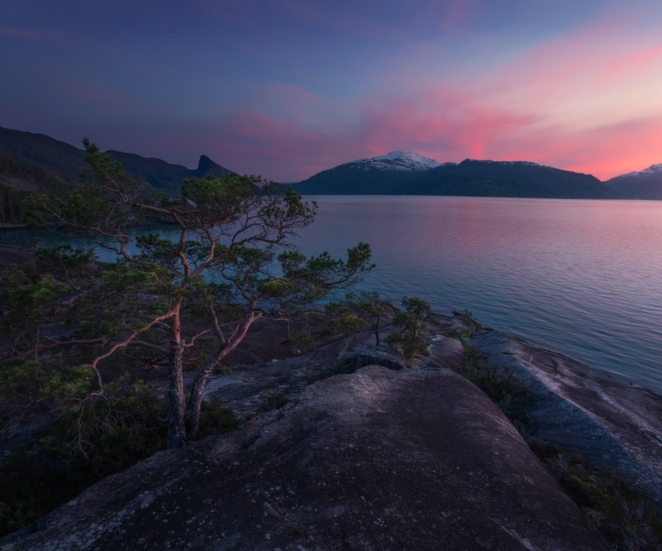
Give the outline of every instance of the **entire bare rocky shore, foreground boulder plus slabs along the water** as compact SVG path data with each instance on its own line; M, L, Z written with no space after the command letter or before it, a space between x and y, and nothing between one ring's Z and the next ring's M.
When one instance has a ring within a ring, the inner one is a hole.
M439 316L415 366L368 333L237 364L206 392L239 429L108 477L0 550L610 548L531 444L662 503L662 397L466 326ZM525 388L525 437L461 375L470 353Z

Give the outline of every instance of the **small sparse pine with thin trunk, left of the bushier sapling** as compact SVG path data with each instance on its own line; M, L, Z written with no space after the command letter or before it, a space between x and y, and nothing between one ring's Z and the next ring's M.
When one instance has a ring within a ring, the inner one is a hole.
M381 298L377 291L361 291L359 295L347 293L344 300L330 302L326 312L336 316L329 324L333 331L351 333L370 327L374 331L374 342L379 346L381 318L388 306L388 300Z

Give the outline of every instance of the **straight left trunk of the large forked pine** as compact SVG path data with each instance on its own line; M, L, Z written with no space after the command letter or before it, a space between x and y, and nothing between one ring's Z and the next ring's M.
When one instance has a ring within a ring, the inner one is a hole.
M186 441L184 422L184 377L183 353L181 342L180 308L174 309L171 318L170 356L168 357L168 449L180 448Z

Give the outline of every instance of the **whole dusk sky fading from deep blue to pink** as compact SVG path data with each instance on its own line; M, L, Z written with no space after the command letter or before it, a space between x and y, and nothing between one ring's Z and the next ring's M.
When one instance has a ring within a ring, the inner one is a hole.
M662 163L660 0L0 0L0 126L294 182Z

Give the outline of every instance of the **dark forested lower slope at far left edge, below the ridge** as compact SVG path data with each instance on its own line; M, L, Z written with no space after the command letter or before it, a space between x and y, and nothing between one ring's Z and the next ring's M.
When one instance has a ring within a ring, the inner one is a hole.
M21 224L35 189L57 195L78 184L0 151L0 224Z

